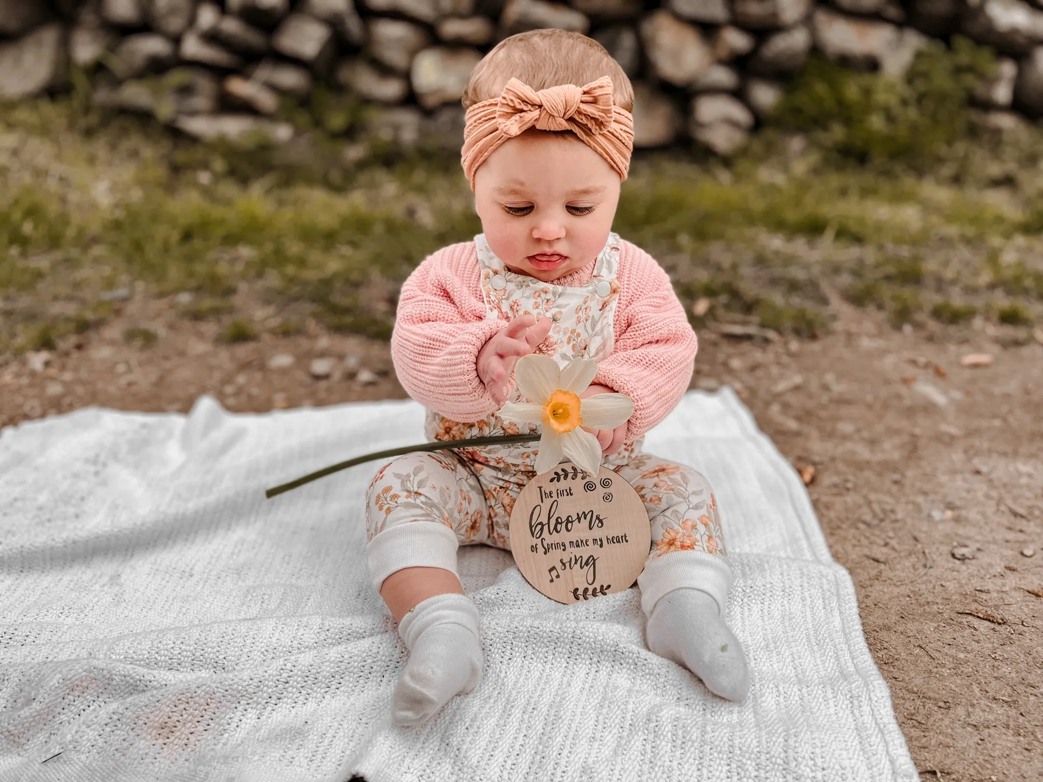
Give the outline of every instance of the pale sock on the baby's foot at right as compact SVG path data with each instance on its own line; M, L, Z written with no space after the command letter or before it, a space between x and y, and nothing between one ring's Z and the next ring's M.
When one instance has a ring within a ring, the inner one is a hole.
M655 604L645 632L649 650L686 667L710 692L729 701L746 698L746 655L709 593L690 588L666 592Z

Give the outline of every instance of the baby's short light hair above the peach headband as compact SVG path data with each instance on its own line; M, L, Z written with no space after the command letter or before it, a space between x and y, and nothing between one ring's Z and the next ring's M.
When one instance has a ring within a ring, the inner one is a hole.
M500 97L513 77L539 92L558 84L583 87L608 76L612 100L634 109L634 88L605 47L579 32L530 30L504 39L475 66L463 91L463 107Z

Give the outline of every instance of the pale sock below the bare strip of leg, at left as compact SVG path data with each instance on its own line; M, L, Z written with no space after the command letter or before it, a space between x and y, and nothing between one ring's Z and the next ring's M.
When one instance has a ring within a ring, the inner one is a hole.
M396 725L427 722L482 678L478 607L466 595L450 592L421 601L402 617L398 635L410 655L394 688Z

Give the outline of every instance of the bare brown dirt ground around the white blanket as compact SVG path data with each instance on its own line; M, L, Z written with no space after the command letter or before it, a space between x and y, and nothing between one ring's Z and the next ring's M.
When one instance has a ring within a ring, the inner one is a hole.
M1043 333L1004 348L988 324L899 332L833 307L816 341L701 334L693 387L731 385L810 481L921 776L1039 780ZM222 345L175 312L132 297L54 351L0 363L0 426L88 405L188 412L201 393L237 412L406 396L385 343L310 322ZM130 326L159 339L128 345ZM975 353L992 363L962 363Z

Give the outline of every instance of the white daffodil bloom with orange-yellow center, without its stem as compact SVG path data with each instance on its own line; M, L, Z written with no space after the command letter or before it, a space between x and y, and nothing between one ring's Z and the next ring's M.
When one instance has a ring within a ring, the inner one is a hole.
M547 472L562 456L597 475L601 468L601 444L581 426L615 429L634 412L626 394L580 394L598 373L598 362L574 359L564 369L550 356L530 353L514 365L514 380L523 396L531 401L509 401L496 414L514 423L540 423L543 434L536 457L536 474Z

